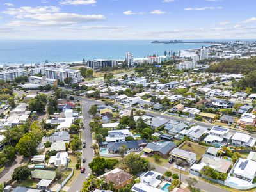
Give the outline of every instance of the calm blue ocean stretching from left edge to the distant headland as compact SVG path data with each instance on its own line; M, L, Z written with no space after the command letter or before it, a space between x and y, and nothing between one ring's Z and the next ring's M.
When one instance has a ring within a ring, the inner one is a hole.
M150 40L0 40L0 64L73 62L93 59L124 60L164 51L195 49L209 44L152 44Z

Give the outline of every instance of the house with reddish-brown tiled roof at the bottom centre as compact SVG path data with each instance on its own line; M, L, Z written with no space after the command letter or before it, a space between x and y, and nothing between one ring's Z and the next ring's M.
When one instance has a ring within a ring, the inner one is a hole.
M125 186L131 184L132 182L132 175L125 172L124 170L121 170L120 168L115 168L114 170L111 170L104 175L101 175L98 177L98 179L104 178L104 181L106 183L113 182L115 185L115 189L121 189Z

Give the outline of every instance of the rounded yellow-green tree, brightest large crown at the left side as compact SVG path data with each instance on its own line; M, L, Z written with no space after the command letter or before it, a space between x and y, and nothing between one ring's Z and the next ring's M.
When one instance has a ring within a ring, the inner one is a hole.
M36 136L29 132L24 134L22 138L20 138L19 143L16 145L16 150L19 152L20 155L29 157L36 154L36 146L38 141Z

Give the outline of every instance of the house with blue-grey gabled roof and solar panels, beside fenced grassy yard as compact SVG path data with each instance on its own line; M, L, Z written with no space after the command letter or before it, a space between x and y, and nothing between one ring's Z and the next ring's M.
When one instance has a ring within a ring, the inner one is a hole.
M176 144L171 141L153 142L148 143L148 145L143 148L143 152L145 154L158 154L166 159L169 157L169 152L175 147Z

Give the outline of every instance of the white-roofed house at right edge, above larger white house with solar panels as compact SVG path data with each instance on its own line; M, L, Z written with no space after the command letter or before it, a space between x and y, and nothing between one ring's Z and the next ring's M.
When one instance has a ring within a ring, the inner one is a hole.
M231 145L237 147L253 147L255 145L255 140L249 134L236 132L231 138Z

